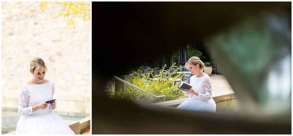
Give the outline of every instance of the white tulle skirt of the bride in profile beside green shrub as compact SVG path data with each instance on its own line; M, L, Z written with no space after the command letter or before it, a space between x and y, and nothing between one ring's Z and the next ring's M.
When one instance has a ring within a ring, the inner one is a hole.
M176 109L216 112L216 103L213 99L203 100L194 96L193 99L185 100Z

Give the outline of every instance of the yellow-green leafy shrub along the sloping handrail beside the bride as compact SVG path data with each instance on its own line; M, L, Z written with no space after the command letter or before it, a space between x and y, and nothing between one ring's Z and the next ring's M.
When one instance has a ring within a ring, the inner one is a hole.
M175 65L175 63L173 64ZM171 68L173 68L173 65L167 69L166 72L171 72ZM137 68L136 72L137 74L134 74L134 80L133 85L151 93L155 96L166 96L166 101L178 99L180 95L184 95L185 93L178 89L178 85L173 85L174 81L176 79L182 78L185 73L181 73L179 75L171 77L176 71L179 70L177 68L175 71L171 73L171 75L158 75L156 78L150 78L153 77L153 70L150 70L147 72L146 76L142 77L141 72L143 70L144 66L140 66ZM162 67L162 71L165 69L166 65ZM148 81L148 82L146 82ZM127 100L133 100L133 101L144 101L147 103L157 103L163 101L163 98L155 98L152 97L134 87L130 87L130 89L127 89L127 91L109 91L108 95L110 97L114 98L121 98L121 99L127 99Z

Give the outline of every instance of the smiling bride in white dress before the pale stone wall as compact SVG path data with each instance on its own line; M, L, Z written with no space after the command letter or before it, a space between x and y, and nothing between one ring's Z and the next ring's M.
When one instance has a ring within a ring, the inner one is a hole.
M44 79L47 72L40 57L30 61L32 79L21 87L18 99L18 120L16 134L74 134L65 121L54 112L57 101L52 81Z

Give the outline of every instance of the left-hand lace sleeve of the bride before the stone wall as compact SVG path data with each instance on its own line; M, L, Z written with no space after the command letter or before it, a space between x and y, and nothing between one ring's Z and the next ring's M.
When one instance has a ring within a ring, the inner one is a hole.
M30 115L33 113L32 107L28 107L28 90L25 86L23 86L19 93L18 98L18 113L20 115Z

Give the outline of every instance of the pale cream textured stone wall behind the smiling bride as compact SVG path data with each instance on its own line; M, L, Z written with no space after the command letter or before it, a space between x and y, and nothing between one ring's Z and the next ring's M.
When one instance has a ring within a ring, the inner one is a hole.
M91 22L76 20L76 29L65 29L66 18L57 16L66 10L62 6L49 5L45 12L35 2L1 6L2 107L17 107L13 101L32 78L30 60L41 57L48 68L45 79L54 82L60 100L58 110L90 113Z

